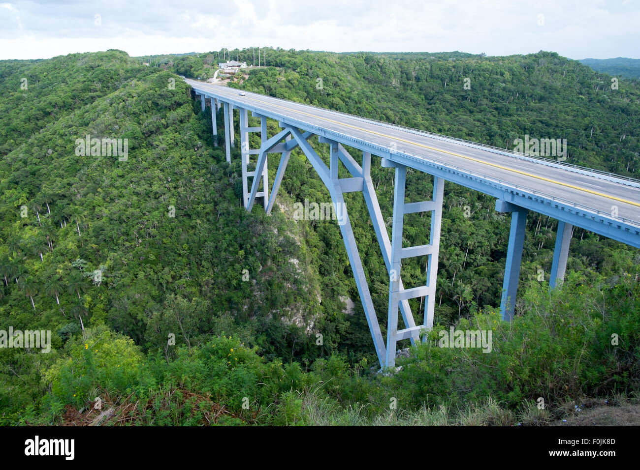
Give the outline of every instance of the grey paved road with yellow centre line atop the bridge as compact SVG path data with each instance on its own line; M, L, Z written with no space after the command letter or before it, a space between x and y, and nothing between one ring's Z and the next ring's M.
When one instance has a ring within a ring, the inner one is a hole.
M548 166L540 161L526 161L516 156L502 155L491 150L473 148L460 142L446 141L420 131L366 120L357 116L336 113L305 104L280 100L257 93L246 92L216 84L186 79L192 86L210 90L221 98L228 97L250 106L289 116L298 121L324 129L357 137L398 152L456 166L465 171L490 176L511 185L518 185L544 194L562 198L584 207L610 214L612 207L618 215L640 224L640 185L628 184L614 178L583 175L565 168Z

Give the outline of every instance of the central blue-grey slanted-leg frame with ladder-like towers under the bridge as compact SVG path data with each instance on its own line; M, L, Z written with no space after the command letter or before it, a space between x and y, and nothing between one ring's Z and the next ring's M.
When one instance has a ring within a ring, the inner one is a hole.
M392 227L392 238L395 240L394 244L393 240L390 240L388 237L387 228L383 221L380 205L378 204L374 185L371 180L371 153L363 152L362 166L360 166L360 164L353 159L353 157L340 143L332 141L331 139L319 137L319 141L321 143L327 143L330 147L330 164L327 167L323 159L317 155L316 150L314 150L314 148L312 148L308 143L308 138L313 135L311 132L303 133L295 127L289 127L280 123L280 126L284 127L284 129L278 132L275 136L266 138L266 121L264 120L264 117L258 116L262 119L262 128L260 129L248 127L246 116L246 110L241 109L240 128L241 142L243 146L243 175L253 176L251 190L247 191L246 187L243 187L245 194L245 207L248 210L252 210L255 198L263 196L266 212L271 212L280 183L282 182L282 176L284 175L287 163L291 157L291 152L294 148L299 147L330 192L333 208L335 210L335 214L338 216L342 239L344 240L349 263L353 270L358 294L360 294L365 317L367 318L367 324L369 324L369 330L371 331L371 336L374 341L374 347L376 349L380 365L383 367L394 366L396 360L397 341L409 339L412 343L415 343L415 341L419 341L421 329L429 329L433 326L435 278L438 266L444 180L441 178L434 178L434 198L432 201L405 204L404 175L406 174L406 168L404 166L398 166L396 168L396 178L400 178L401 181L396 181L396 194L394 196L396 200L396 204L394 204L394 225ZM245 144L248 142L247 134L248 132L258 132L259 130L262 132L262 145L259 150L250 151L248 144ZM278 171L276 172L273 187L271 188L271 197L269 198L268 181L266 178L262 180L263 191L258 192L261 178L256 178L255 175L265 175L267 155L268 153L276 152L281 153L280 164L278 165ZM248 157L248 155L255 153L259 155L255 171L246 171L248 159L244 159ZM340 161L342 161L344 167L351 173L350 178L339 178L338 167ZM371 292L369 292L369 285L364 273L364 267L362 265L362 260L360 259L358 247L356 246L353 228L349 221L349 214L343 197L344 192L358 191L363 193L365 202L367 203L374 231L376 232L376 238L378 239L378 244L380 244L380 249L385 260L385 265L387 265L390 279L390 302L388 310L386 345L380 331L378 317L372 302ZM397 201L401 202L397 203ZM431 233L429 235L429 245L407 248L401 247L400 243L402 240L403 226L402 218L404 217L404 214L426 211L431 212ZM397 220L399 220L399 222L397 222ZM426 285L405 289L401 279L401 260L403 258L424 255L428 255ZM420 296L426 297L426 309L422 325L416 325L408 300ZM397 329L398 311L400 311L405 325L404 329L401 330Z

